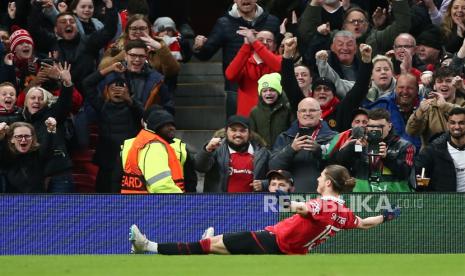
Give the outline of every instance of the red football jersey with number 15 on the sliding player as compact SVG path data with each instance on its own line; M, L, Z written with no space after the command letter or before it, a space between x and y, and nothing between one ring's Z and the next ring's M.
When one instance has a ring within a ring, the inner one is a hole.
M276 235L279 249L283 253L306 254L341 229L356 228L359 223L340 198L324 196L305 204L309 210L306 217L295 214L265 228Z

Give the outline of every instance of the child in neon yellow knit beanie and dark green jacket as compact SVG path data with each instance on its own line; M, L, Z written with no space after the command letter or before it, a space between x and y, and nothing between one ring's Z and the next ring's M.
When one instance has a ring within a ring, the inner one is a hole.
M281 75L271 73L258 80L258 105L250 113L250 128L265 139L271 148L278 135L287 130L293 116L283 96Z

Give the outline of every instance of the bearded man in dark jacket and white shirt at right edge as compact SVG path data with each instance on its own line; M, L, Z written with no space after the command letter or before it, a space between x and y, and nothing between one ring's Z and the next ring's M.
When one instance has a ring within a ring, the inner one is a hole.
M465 109L449 112L448 132L435 139L415 159L417 173L430 178L420 190L465 192ZM418 184L417 184L418 185Z

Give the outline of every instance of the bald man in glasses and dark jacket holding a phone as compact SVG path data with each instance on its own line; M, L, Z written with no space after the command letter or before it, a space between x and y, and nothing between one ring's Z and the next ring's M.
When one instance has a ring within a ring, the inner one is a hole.
M297 107L297 120L278 136L273 146L270 169L289 171L297 193L316 192L317 178L325 167L320 145L326 145L337 134L321 119L321 114L316 99L304 98Z

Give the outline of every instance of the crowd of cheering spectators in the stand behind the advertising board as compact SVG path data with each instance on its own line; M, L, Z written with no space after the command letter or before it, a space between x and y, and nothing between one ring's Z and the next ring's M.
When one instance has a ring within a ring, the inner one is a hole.
M0 193L74 192L90 126L98 193L314 193L329 164L357 192L465 192L465 0L231 0L196 36L159 1L5 2ZM193 150L177 76L220 49L227 120Z

